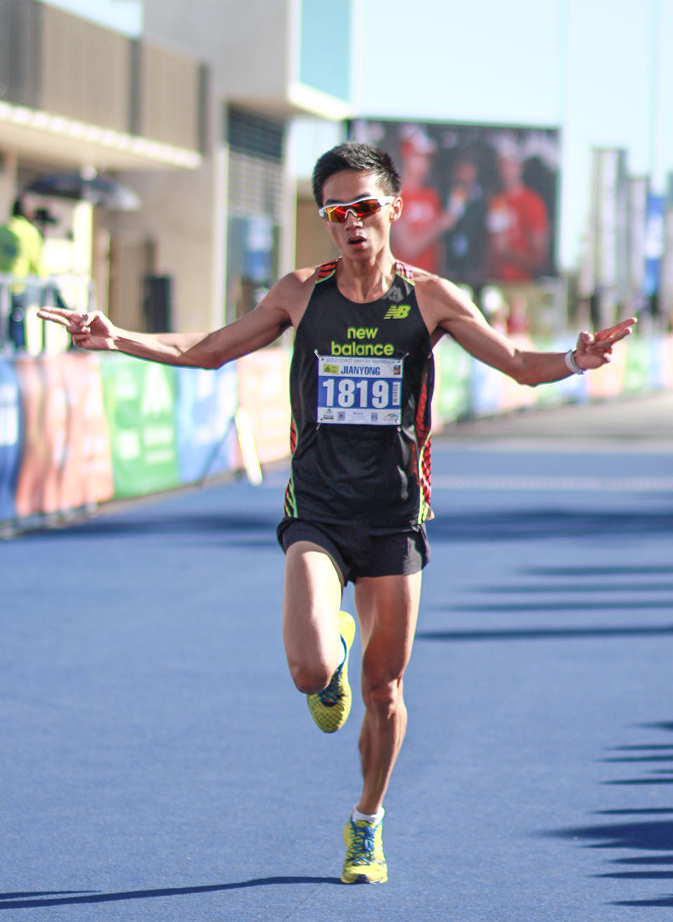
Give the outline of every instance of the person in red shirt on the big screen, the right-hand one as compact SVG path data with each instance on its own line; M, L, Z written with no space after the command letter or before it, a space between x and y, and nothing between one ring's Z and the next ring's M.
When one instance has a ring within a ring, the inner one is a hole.
M488 276L500 281L537 278L549 266L549 218L544 199L523 182L521 151L499 138L501 191L490 201Z

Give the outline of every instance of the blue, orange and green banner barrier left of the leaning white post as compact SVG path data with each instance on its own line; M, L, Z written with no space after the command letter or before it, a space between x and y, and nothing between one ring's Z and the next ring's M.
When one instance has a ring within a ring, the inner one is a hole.
M0 521L235 470L238 378L76 350L0 361Z

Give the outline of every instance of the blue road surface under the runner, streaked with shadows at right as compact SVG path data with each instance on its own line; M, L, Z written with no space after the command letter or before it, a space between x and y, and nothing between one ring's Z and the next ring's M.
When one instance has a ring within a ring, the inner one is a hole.
M380 887L360 699L324 736L285 664L285 475L0 546L0 922L666 918L671 452L436 441Z

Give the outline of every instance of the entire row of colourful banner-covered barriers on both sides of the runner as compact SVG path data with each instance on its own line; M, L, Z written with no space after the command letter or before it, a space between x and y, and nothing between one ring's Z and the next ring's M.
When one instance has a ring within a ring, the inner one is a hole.
M573 342L559 337L535 346L559 351ZM673 337L631 337L599 371L537 388L474 361L448 337L435 358L435 431L517 408L673 388ZM40 524L240 470L241 410L259 461L287 458L289 361L283 348L219 371L73 349L0 359L0 523Z

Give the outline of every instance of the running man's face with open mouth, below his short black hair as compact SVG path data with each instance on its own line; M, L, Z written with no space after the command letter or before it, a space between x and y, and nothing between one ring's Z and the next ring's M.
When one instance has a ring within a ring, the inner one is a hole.
M345 170L335 173L323 186L323 205L331 202L354 202L367 195L381 197L384 189L375 181L372 173ZM401 202L396 199L390 205L368 218L356 218L352 212L343 224L327 223L325 227L335 246L341 253L356 262L367 262L390 246L390 228L399 214Z

